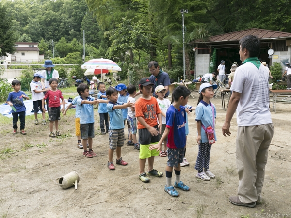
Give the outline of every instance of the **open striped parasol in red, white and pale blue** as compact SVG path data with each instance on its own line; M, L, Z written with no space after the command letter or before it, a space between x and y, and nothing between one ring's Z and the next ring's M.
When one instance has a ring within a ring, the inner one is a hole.
M100 69L101 70L101 81L103 81L102 75L103 70L109 71L121 71L121 68L113 61L105 58L92 59L81 65L82 69Z

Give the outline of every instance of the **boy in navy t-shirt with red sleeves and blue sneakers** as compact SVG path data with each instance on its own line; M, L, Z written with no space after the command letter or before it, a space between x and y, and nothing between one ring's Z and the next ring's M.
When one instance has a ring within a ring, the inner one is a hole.
M180 180L181 163L184 159L184 151L186 146L186 110L184 106L188 102L190 91L184 87L177 87L172 94L174 103L170 106L166 113L166 129L156 145L151 145L150 150L162 150L162 142L168 137L168 162L166 167L167 185L164 191L168 192L173 197L178 197L179 193L174 187L180 188L183 191L189 191L190 188ZM176 175L174 187L172 186L173 168Z

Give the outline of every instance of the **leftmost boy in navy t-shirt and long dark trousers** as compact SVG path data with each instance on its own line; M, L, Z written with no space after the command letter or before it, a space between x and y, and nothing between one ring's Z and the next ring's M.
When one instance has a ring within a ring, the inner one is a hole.
M18 122L18 116L20 119L20 133L22 135L25 135L26 132L24 130L25 128L25 105L23 103L23 98L26 100L29 100L29 97L22 91L21 89L21 83L17 79L13 80L12 83L13 91L9 93L7 98L7 103L12 107L12 116L13 116L13 132L12 134L17 133L17 122Z

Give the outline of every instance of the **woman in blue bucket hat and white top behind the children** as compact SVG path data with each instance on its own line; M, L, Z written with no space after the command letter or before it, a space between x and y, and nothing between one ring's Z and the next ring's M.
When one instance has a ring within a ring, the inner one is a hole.
M43 88L50 88L49 79L56 78L59 80L59 72L57 70L53 69L53 67L55 65L52 64L51 60L46 60L45 64L42 66L45 67L46 69L41 72L41 74L43 75L43 78L41 79L41 84L42 84ZM46 99L46 102L47 102L47 109L48 109L49 108L49 98Z

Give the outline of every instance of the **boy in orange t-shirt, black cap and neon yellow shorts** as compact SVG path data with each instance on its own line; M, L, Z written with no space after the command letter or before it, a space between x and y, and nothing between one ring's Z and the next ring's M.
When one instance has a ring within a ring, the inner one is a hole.
M135 102L135 117L137 118L138 133L140 139L140 154L139 154L139 179L143 182L148 182L148 175L161 177L162 172L153 168L155 156L159 156L157 149L149 150L150 144L157 144L160 140L159 133L162 127L161 110L156 98L151 96L153 83L148 78L142 78L139 82L139 90L142 97ZM157 122L159 119L159 126ZM146 159L148 159L148 172L145 172Z

